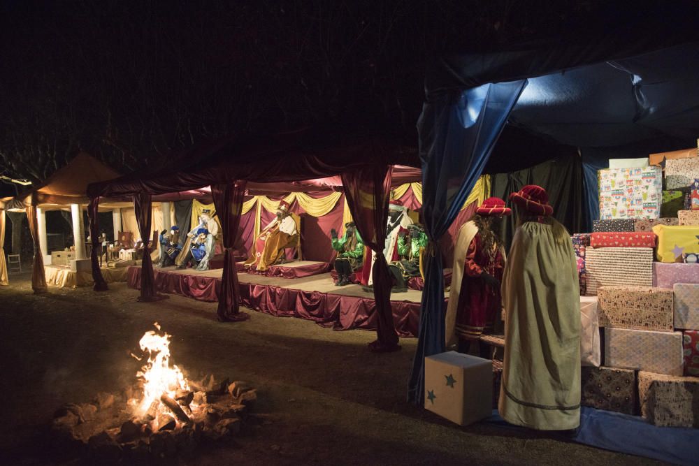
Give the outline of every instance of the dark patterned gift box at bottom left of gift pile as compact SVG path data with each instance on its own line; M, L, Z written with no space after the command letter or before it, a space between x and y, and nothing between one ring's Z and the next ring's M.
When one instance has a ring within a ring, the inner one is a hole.
M636 414L636 372L614 367L583 367L580 403L597 409Z

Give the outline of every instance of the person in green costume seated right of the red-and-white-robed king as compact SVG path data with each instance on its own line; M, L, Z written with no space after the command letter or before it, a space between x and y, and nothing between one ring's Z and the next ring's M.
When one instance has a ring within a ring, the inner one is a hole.
M397 261L389 262L389 271L394 276L396 285L391 291L397 293L408 291L408 279L421 275L421 260L428 239L425 229L420 224L408 225L408 232L398 233L396 252Z

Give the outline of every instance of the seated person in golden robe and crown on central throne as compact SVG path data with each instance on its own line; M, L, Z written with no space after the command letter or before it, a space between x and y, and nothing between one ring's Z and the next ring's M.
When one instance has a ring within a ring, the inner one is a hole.
M277 217L265 226L252 243L252 248L243 264L245 269L255 268L264 272L270 265L284 258L284 249L295 247L298 242L298 226L289 214L289 203L280 201Z

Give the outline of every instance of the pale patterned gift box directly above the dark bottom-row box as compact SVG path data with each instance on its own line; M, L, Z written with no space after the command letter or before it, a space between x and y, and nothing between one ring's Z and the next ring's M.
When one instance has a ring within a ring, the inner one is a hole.
M682 375L682 333L605 328L605 365Z

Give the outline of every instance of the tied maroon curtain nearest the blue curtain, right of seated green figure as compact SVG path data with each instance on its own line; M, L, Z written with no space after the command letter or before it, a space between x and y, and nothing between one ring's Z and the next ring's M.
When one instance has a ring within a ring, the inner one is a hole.
M389 197L391 196L391 166L372 165L342 174L349 211L364 244L376 253L372 268L374 300L376 301L377 340L372 351L396 351L398 333L391 312L391 274L384 257Z

